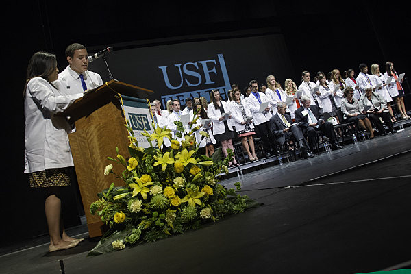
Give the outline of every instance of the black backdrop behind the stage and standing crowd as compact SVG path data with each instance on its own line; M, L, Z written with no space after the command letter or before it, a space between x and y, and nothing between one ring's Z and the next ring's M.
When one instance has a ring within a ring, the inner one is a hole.
M9 2L1 18L0 246L47 233L42 195L29 188L23 174L22 92L27 63L36 51L55 53L61 71L64 49L72 42L86 45L89 53L112 46L115 51L107 60L114 77L154 90L158 99L175 93L165 87L158 66L168 65L171 71L175 64L212 60L217 54L224 56L229 82L240 87L251 79L262 83L269 74L284 84L288 77L299 82L303 70L358 71L361 62L377 63L384 71L390 60L397 71L409 73L410 10L394 8L375 1L140 1L138 7L103 1ZM97 60L90 70L107 81L102 65ZM217 76L210 73L212 81L221 82ZM196 82L195 77L187 79ZM190 88L182 86L178 92L200 87ZM404 88L410 92L406 84ZM410 108L409 99L406 105ZM66 223L76 221L66 215Z

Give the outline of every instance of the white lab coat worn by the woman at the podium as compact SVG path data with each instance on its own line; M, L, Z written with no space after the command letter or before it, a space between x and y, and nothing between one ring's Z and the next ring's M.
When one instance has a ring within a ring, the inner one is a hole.
M55 86L58 83L55 82ZM69 134L63 112L83 94L63 95L49 82L35 77L27 84L25 108L25 173L73 166Z

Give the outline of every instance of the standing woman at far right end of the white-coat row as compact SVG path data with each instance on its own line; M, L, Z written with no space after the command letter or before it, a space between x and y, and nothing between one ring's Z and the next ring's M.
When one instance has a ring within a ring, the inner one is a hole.
M393 76L393 80L388 84L387 89L390 92L391 97L395 97L395 105L397 105L397 110L401 113L402 119L410 119L410 116L407 115L406 105L404 105L404 90L401 86L401 81L398 81L398 75L395 72L394 64L392 62L386 62L386 72L384 77L386 80L388 77Z

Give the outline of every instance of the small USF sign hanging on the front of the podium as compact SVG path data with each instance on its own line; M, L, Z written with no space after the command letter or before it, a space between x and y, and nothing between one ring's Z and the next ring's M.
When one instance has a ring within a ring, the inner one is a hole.
M147 107L147 101L138 98L123 96L124 112L134 132L134 137L137 138L138 145L140 147L150 147L150 143L147 142L147 138L142 136L142 132L145 130L149 134L153 133L153 121L151 119L151 113ZM155 146L155 142L152 142Z

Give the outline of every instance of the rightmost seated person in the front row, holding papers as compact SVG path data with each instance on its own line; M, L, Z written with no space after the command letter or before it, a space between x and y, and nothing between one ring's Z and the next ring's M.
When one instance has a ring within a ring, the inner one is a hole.
M384 129L384 125L382 125L379 117L382 118L382 121L386 123L388 127L388 132L395 133L397 132L394 129L393 122L391 122L391 116L388 113L387 108L387 101L379 95L379 93L373 92L373 86L365 86L364 87L365 94L361 95L359 104L360 104L360 111L362 114L366 114L369 116L371 123L377 127L379 135L386 135L386 130ZM366 106L371 106L369 110L366 112L364 108Z

